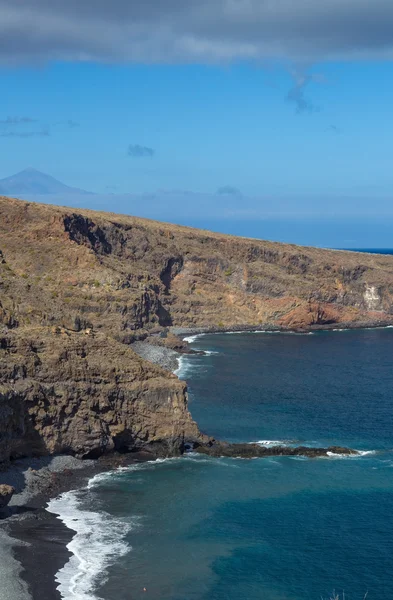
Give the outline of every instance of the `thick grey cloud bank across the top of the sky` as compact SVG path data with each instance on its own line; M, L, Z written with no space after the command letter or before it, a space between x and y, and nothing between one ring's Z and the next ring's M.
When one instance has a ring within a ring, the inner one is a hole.
M391 0L0 0L0 62L393 59Z

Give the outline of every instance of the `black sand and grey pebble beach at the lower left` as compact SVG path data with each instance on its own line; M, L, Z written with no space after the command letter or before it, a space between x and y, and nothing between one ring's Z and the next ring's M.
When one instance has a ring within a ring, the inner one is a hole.
M4 600L60 600L56 573L70 557L74 533L45 507L51 498L85 486L97 473L139 461L149 454L112 455L82 461L71 456L22 459L0 474L16 488L0 512L0 586Z

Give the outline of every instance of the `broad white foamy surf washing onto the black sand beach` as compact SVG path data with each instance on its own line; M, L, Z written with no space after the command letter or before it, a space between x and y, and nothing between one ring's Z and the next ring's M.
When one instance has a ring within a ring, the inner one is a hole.
M61 597L101 600L95 590L105 581L107 568L131 550L124 539L131 529L130 523L105 512L82 509L77 491L54 498L47 510L75 531L67 546L72 556L56 574Z

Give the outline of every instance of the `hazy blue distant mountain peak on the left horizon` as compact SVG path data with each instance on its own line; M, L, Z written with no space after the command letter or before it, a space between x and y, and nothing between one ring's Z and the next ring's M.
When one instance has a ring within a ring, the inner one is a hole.
M0 179L0 193L6 196L23 196L25 194L85 195L92 192L70 187L34 167L27 167L15 175Z

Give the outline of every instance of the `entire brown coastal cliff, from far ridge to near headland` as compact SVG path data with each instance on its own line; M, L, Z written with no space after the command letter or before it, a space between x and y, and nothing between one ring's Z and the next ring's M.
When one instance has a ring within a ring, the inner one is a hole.
M0 197L0 461L182 451L186 388L128 344L168 326L393 323L393 258Z

